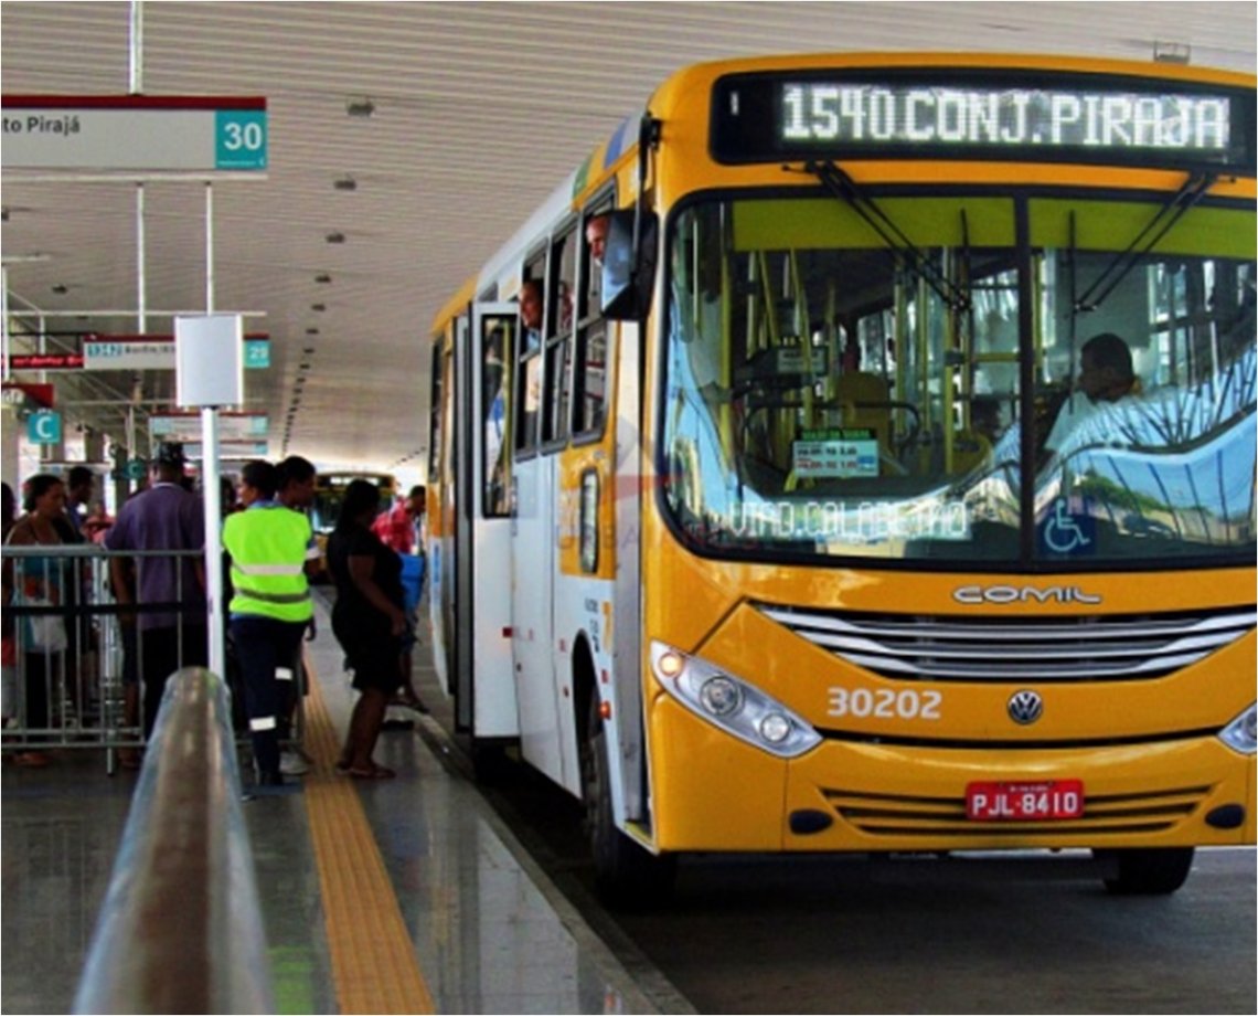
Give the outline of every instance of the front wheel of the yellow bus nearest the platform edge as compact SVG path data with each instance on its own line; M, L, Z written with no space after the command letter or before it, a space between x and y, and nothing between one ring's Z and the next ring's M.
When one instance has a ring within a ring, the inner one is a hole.
M655 856L616 828L611 811L611 764L608 738L595 696L589 737L581 750L585 822L594 854L594 888L609 906L643 909L668 898L677 857Z

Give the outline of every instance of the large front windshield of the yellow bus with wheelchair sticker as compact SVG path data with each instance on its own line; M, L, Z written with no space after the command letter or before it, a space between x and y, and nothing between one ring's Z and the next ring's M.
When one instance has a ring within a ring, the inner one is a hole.
M878 196L887 232L815 194L689 203L659 405L674 530L757 559L1250 563L1253 209L1155 237L1165 205Z

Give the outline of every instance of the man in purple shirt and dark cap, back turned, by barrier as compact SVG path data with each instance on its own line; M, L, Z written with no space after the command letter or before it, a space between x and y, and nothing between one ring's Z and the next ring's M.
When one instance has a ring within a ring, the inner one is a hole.
M157 448L148 488L132 496L104 535L107 550L167 551L167 555L109 559L114 599L141 611L121 613L120 623L136 629L140 680L143 685L143 733L152 734L166 681L180 667L206 666L205 562L169 551L205 548L201 499L185 490L184 446L167 442ZM143 609L156 607L160 609ZM125 637L126 641L126 637Z

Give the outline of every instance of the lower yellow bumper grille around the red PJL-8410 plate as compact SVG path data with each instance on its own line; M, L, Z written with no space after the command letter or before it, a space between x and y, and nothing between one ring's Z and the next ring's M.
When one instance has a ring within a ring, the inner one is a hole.
M1045 822L972 822L965 817L965 798L907 797L844 789L823 789L835 813L869 836L1059 836L1078 833L1166 832L1200 807L1209 787L1180 787L1154 793L1088 797L1079 818Z

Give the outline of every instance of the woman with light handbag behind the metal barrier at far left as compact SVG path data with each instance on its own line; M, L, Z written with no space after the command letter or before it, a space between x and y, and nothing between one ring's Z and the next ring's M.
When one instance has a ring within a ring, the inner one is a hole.
M52 473L39 473L23 485L23 515L5 543L10 546L59 546L59 522L65 515L65 485ZM4 563L5 603L30 607L55 607L64 602L64 564L55 556L28 556ZM65 667L65 618L58 614L35 614L23 618L19 646L23 650L20 669L25 689L24 726L47 730L50 721L49 701L54 687L60 686ZM19 765L48 765L49 758L38 750L20 752Z

